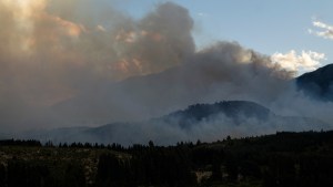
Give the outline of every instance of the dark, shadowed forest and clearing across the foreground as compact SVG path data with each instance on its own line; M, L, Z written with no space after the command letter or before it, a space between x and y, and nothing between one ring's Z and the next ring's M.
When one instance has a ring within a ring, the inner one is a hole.
M176 145L0 141L0 187L333 186L333 131Z

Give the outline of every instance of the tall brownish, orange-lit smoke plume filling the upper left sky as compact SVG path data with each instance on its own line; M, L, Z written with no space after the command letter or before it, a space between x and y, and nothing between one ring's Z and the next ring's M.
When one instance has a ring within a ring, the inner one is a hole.
M46 111L59 102L194 53L186 9L167 2L134 21L110 4L0 1L1 126L48 125L54 118Z

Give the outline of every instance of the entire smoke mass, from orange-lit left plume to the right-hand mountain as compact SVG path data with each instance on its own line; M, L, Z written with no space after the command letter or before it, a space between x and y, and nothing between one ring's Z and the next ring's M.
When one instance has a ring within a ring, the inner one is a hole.
M102 0L0 0L0 22L2 132L145 121L222 100L254 101L278 114L333 122L333 104L299 93L291 83L293 72L270 56L235 42L195 51L194 22L172 2L133 20ZM280 129L225 125L214 131L220 122L229 124L220 118L190 135L162 126L140 128L188 139L220 134L210 132Z

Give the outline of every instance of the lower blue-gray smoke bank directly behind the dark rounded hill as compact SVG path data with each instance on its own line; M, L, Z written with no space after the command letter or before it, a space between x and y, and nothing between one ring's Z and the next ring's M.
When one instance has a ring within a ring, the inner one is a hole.
M53 110L68 116L70 123L90 120L103 124L148 120L198 102L250 100L266 104L289 89L290 77L268 56L236 43L220 42L180 66L105 84L54 105Z

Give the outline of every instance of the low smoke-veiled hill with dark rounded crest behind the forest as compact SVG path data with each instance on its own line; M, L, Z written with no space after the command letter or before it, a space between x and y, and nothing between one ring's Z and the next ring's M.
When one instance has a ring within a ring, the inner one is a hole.
M276 131L326 129L321 121L297 116L279 116L249 101L223 101L194 104L168 115L131 123L111 123L98 127L58 128L39 132L29 138L60 142L175 144L181 141L216 141L228 135L251 136ZM27 137L26 137L27 138Z

